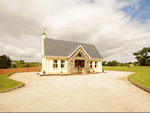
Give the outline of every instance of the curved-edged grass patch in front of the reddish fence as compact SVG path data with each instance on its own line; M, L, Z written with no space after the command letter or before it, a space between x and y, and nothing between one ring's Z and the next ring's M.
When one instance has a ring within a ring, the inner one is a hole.
M0 91L5 91L5 90L8 90L8 89L11 89L13 87L17 87L23 84L22 82L18 82L18 81L7 78L7 76L10 74L12 73L0 75Z

